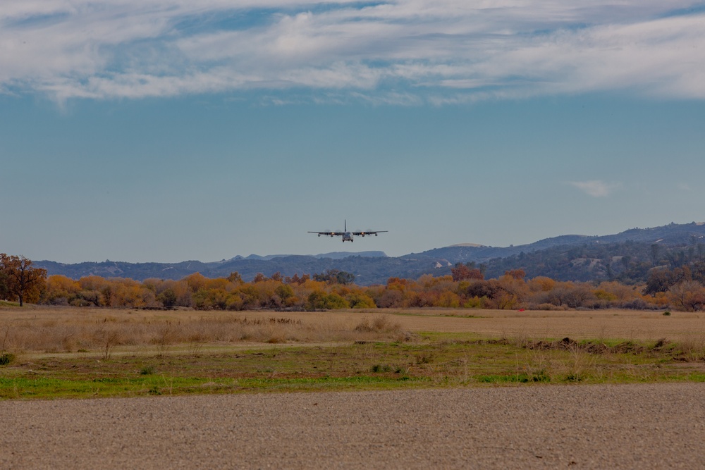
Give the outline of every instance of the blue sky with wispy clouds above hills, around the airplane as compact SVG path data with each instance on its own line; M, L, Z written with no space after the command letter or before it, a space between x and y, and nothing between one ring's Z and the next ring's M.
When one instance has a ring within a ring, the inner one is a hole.
M0 252L400 256L705 221L703 25L680 0L4 0ZM388 233L307 233L345 221Z

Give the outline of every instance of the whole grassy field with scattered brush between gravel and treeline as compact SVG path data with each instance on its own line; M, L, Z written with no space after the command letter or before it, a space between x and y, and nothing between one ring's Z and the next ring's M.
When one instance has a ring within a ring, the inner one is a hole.
M5 399L705 381L705 318L4 306L0 354Z

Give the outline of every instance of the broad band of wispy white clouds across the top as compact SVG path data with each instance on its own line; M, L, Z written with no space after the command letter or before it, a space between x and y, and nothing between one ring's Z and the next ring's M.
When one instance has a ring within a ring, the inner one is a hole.
M705 99L698 6L6 0L0 92L58 101L252 89L410 104L603 90Z

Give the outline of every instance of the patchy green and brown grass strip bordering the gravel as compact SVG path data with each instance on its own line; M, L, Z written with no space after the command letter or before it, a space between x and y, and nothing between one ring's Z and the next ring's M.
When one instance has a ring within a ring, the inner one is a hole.
M483 385L705 381L699 345L488 340L204 348L170 354L20 354L0 368L0 398L396 390Z

